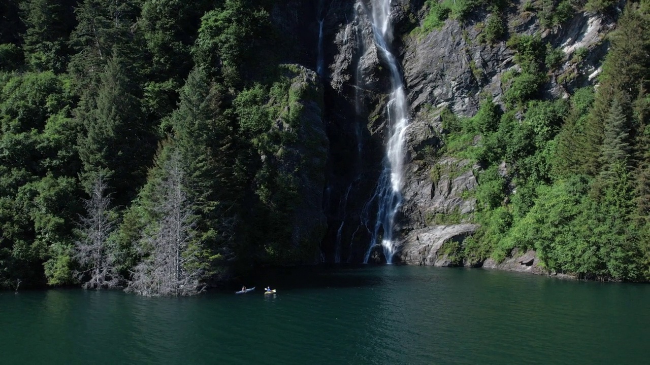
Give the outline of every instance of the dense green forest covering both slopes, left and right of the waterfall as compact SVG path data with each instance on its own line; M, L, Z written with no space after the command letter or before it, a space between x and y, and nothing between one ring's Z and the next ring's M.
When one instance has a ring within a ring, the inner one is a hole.
M305 179L324 179L327 141L301 122L324 96L315 60L297 66L304 55L272 17L278 3L2 2L0 287L185 295L233 265L317 261L324 224L298 234L296 212ZM410 36L479 8L502 14L494 3L427 1ZM614 14L610 51L596 88L551 100L541 87L562 53L489 18L485 42L507 40L519 71L473 118L441 115L432 160L481 166L467 192L476 212L434 217L481 225L445 253L535 249L550 271L647 281L650 4L534 4L549 27L584 8Z

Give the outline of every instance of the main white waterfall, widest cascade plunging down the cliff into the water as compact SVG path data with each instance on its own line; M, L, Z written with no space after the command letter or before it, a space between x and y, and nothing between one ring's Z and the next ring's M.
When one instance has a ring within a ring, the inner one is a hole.
M393 255L398 247L395 242L395 216L402 205L402 180L404 178L404 136L408 126L408 104L404 92L404 81L400 73L397 59L389 51L392 39L391 0L372 0L372 31L374 42L391 71L391 97L386 106L389 134L386 155L383 160L383 170L377 183L376 190L370 201L377 203L377 215L374 227L369 228L371 234L370 246L364 257L368 262L372 247L378 245L381 236L383 255L388 264L393 263Z

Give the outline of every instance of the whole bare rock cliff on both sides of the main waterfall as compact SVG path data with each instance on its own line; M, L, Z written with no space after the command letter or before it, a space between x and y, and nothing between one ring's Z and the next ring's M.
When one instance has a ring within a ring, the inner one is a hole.
M320 11L327 65L321 76L331 146L324 194L328 234L322 244L328 262L358 261L368 249L373 207L367 202L384 152L383 110L388 85L385 64L372 42L368 6L369 1L324 1ZM474 9L462 23L447 19L439 29L423 34L413 28L428 12L424 1L400 0L392 6L392 47L402 64L411 112L404 203L398 223L399 260L419 265L463 264L447 260L441 247L445 242L461 241L478 227L473 222L476 201L471 191L477 186L481 166L437 154L443 144L441 110L448 108L457 116L469 117L476 114L480 97L503 103L509 82L504 75L519 68L513 50L506 45L513 34L539 34L543 44L562 49L562 61L549 71L541 90L547 99L567 97L571 90L593 84L608 49L604 34L614 27L614 19L579 12L561 26L543 27L537 14L527 11L523 2L514 1L503 12L506 34L498 41L486 42L482 34L492 14L485 9ZM532 269L539 261L534 253L512 255L521 257L510 261L524 263L488 260L464 264L538 270ZM376 252L371 258L385 260Z

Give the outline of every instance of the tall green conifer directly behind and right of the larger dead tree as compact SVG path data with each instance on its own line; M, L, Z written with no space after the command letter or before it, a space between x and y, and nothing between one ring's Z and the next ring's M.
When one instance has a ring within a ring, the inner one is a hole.
M222 115L220 87L203 68L190 72L172 116L174 142L188 171L187 192L201 213L199 231L220 253L233 239L239 182L235 181L232 132ZM225 251L224 251L225 250Z

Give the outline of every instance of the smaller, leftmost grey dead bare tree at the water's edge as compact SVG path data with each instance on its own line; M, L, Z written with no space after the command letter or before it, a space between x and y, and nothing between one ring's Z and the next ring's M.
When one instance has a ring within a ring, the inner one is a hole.
M109 236L116 225L110 209L110 195L104 175L99 175L92 186L90 199L84 199L86 216L81 217L83 238L75 243L75 258L83 271L77 277L85 281L85 289L115 288L122 277L115 268L115 251L109 245Z

